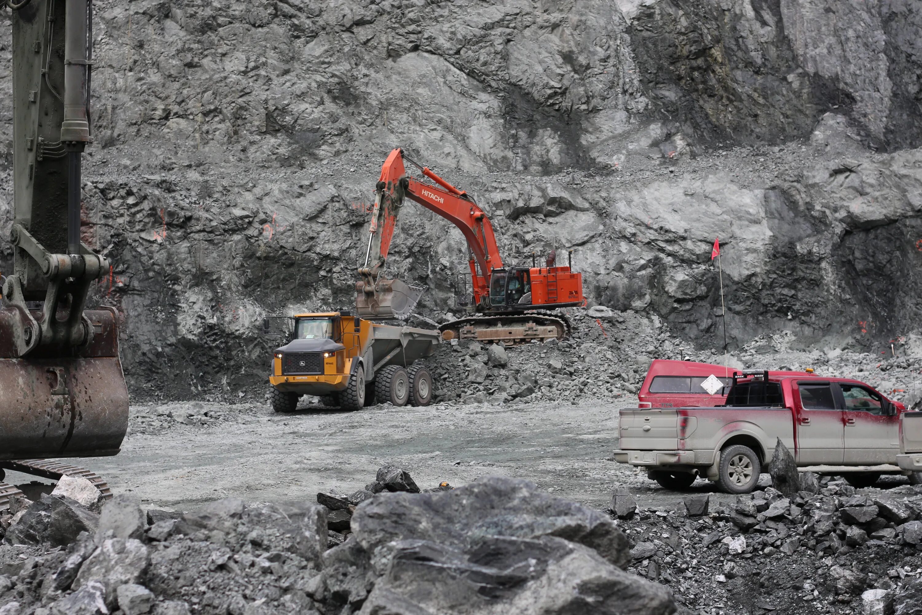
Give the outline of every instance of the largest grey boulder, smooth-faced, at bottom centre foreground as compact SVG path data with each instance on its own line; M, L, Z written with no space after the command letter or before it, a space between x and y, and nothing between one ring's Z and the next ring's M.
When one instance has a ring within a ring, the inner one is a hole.
M362 614L675 610L667 587L622 570L631 551L607 515L526 480L383 493L356 509L352 529L325 557L324 575Z

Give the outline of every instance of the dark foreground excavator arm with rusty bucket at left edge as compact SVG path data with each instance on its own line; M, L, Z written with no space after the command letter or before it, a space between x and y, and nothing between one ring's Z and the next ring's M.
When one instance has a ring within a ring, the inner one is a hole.
M95 477L42 460L115 455L128 427L118 315L87 309L89 290L111 266L81 241L92 3L9 6L14 223L13 270L0 299L0 481L4 468ZM105 483L92 481L105 496ZM0 483L0 508L13 492Z

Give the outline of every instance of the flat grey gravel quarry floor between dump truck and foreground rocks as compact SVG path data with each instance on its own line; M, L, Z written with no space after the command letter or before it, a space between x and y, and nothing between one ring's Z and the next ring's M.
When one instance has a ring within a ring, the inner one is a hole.
M284 415L263 403L139 405L121 454L80 463L115 493L178 510L231 495L280 502L349 493L385 462L406 467L421 489L497 474L597 509L610 505L618 483L629 484L642 506L678 503L679 494L643 472L607 460L617 444L616 418L617 409L601 402L314 407ZM7 478L28 480L13 472ZM705 481L695 486L713 491Z

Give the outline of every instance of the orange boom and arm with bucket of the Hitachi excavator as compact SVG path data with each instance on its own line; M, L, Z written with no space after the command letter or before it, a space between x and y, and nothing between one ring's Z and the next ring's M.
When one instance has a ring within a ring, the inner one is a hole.
M407 177L404 160L418 167L424 176L437 185L422 183L412 177ZM391 151L387 160L384 160L381 177L376 186L365 265L359 269L361 281L357 285L357 290L359 290L360 312L369 315L400 317L406 315L401 312L408 313L412 309L412 305L408 308L403 307L408 302L400 298L397 298L396 303L400 304L401 309L396 309L398 306L395 305L395 298L389 294L408 294L408 290L399 288L406 287L405 284L399 280L386 280L384 284L378 281L391 239L394 237L397 216L406 197L452 222L464 234L470 248L469 266L474 287L474 300L479 302L485 298L489 292L491 270L502 268L502 256L496 244L496 236L493 233L490 219L466 192L458 190L428 167L422 167L408 159L403 150L397 148ZM395 285L399 287L396 288ZM416 293L416 299L418 298L418 293ZM412 297L407 297L407 299L412 299ZM412 302L415 303L416 300Z

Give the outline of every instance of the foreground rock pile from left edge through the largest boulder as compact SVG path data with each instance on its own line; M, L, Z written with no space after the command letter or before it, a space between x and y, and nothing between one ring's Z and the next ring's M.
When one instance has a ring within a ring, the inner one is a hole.
M96 513L45 495L6 528L0 612L675 610L667 587L623 570L628 542L606 514L521 479L419 491L406 471L382 467L365 490L318 503L228 498L173 514L116 496Z

